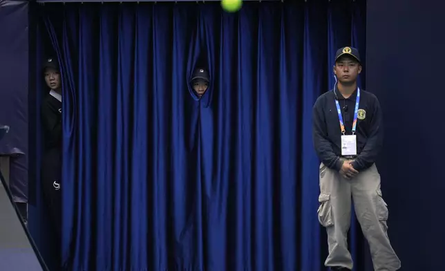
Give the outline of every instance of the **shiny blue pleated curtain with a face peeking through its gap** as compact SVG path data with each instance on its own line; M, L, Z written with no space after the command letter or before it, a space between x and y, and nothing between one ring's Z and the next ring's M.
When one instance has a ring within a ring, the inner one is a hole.
M365 57L365 8L36 7L64 78L66 268L325 270L312 105L334 84L334 50ZM350 241L366 270L357 225Z

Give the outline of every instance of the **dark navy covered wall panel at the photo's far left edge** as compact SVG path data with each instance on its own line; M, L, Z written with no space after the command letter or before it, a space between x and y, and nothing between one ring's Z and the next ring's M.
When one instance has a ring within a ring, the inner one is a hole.
M10 127L0 154L10 156L10 189L28 200L28 1L0 0L0 124Z

